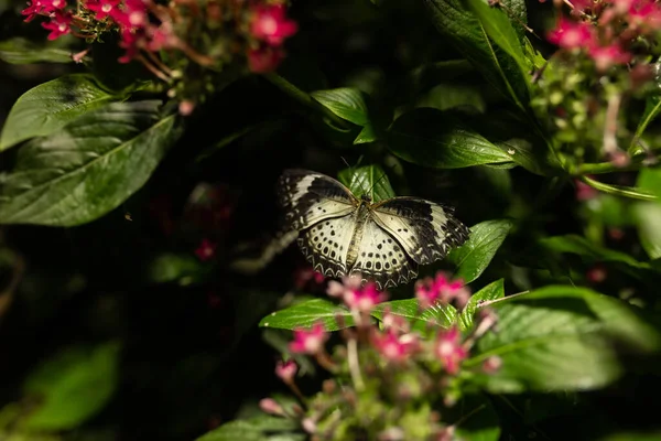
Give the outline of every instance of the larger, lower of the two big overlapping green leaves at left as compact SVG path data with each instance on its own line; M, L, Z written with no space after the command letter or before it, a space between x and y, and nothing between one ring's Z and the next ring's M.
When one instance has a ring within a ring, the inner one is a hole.
M23 146L0 182L0 223L79 225L138 191L177 139L161 103L115 103Z

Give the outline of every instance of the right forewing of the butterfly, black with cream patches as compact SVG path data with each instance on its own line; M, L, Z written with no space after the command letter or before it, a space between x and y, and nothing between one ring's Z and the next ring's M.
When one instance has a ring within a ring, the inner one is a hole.
M393 197L373 205L371 215L421 265L444 258L468 239L468 227L454 217L454 208L430 201Z

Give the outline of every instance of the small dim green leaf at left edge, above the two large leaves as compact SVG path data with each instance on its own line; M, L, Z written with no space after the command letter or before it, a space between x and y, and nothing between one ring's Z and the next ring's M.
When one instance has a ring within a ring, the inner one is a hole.
M59 42L36 43L20 36L0 42L0 60L9 64L72 63L72 51Z

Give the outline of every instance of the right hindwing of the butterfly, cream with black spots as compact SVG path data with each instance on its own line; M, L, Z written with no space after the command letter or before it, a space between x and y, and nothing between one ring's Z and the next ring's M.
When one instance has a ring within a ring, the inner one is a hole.
M398 241L371 218L367 218L357 245L351 273L373 280L379 289L397 287L418 276L414 262Z

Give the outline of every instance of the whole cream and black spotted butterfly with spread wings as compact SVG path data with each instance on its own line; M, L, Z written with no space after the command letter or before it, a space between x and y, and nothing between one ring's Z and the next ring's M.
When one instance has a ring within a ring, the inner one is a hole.
M299 232L299 247L315 270L360 275L379 289L408 282L419 265L444 258L468 239L449 206L408 196L372 203L308 170L285 170L278 196L285 230Z

